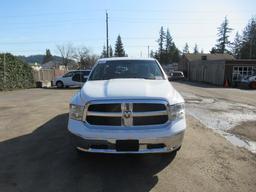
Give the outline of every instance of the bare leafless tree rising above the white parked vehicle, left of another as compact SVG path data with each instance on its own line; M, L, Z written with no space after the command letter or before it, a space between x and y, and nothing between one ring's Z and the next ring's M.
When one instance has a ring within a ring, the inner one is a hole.
M68 68L68 65L72 63L72 59L75 54L75 48L72 44L66 44L66 45L57 45L57 49L60 52L62 65Z

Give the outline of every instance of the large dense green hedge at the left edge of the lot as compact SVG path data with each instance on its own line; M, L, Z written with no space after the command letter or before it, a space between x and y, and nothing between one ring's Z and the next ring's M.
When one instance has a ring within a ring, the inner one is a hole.
M34 87L32 68L9 53L0 54L0 90L31 87Z

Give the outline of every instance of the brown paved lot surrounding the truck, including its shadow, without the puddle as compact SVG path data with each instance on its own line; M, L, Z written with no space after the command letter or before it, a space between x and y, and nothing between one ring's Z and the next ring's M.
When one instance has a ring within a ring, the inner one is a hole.
M174 86L205 96L215 89ZM255 191L255 154L190 115L176 156L77 156L66 130L68 101L76 91L0 93L0 191Z

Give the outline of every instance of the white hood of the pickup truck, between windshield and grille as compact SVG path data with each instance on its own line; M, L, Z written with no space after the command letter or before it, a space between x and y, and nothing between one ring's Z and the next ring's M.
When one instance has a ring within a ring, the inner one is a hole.
M101 99L164 99L170 104L184 102L168 80L87 81L80 91L80 97L85 103Z

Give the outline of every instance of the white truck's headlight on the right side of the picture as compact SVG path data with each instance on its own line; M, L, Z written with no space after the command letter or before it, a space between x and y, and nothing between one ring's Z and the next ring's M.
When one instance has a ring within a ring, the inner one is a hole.
M184 103L178 103L175 105L169 105L169 119L174 121L185 117L185 105Z

